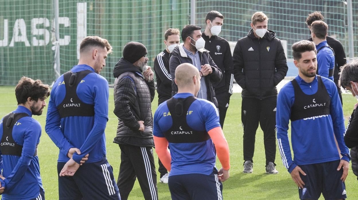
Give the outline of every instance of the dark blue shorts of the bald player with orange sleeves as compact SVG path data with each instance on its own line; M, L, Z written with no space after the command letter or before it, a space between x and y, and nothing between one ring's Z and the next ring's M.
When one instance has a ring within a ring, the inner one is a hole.
M169 175L168 186L172 200L222 200L223 184L216 170L211 175Z

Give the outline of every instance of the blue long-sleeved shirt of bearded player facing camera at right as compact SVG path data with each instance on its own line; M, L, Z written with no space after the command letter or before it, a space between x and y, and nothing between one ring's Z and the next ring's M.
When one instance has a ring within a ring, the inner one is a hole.
M297 165L339 160L340 157L334 137L337 138L340 152L343 155L342 160L350 160L348 156L349 150L344 143L344 117L337 86L330 79L321 78L331 98L330 114L291 121L291 143L294 160L292 160L287 134L291 108L295 101L292 83L286 83L277 96L277 142L282 162L290 173ZM298 75L295 79L305 94L311 95L317 92L317 76L311 83L306 83ZM319 113L317 115L319 115Z

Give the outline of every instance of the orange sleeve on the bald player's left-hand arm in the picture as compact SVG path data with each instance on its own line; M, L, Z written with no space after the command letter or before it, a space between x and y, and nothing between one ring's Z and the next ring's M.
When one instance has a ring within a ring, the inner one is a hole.
M170 171L170 152L168 149L169 142L166 140L165 137L157 137L153 136L154 138L154 145L155 145L155 152L158 154L158 158L164 167Z

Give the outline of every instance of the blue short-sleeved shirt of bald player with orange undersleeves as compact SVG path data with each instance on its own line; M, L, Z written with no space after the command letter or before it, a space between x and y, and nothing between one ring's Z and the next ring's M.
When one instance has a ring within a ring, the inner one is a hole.
M177 93L173 98L193 96L190 93ZM165 137L164 131L169 130L171 119L166 101L158 106L154 114L153 135ZM221 127L219 113L212 102L205 99L196 99L189 107L187 123L197 131L210 131ZM171 156L171 171L169 176L182 174L205 174L213 172L216 162L216 152L213 141L208 139L196 143L169 143Z

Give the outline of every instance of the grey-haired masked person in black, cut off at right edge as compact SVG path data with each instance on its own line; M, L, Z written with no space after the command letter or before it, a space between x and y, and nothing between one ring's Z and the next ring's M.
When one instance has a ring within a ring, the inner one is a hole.
M340 72L339 85L346 92L358 100L358 60L351 60L345 64ZM344 134L344 142L350 148L353 173L358 176L358 103L353 106L353 112L348 119L347 129ZM358 177L357 177L358 179Z

